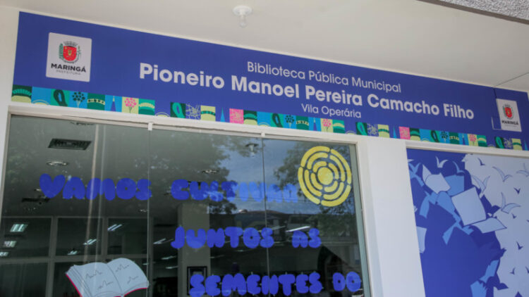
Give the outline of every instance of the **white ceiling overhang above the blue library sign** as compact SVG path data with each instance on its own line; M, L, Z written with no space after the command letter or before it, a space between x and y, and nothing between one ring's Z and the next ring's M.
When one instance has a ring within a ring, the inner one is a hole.
M238 4L253 8L244 29L232 13ZM529 25L416 0L0 0L0 5L529 91Z

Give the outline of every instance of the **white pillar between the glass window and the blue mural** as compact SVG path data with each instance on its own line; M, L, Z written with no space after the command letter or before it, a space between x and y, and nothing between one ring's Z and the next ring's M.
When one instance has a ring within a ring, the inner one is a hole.
M366 138L358 167L373 296L425 296L406 142Z

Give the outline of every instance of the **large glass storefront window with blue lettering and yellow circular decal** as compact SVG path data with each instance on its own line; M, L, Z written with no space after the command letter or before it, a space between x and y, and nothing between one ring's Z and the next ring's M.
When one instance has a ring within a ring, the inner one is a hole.
M127 296L369 296L354 146L25 117L9 137L0 267L44 267L34 296L121 258L149 282Z

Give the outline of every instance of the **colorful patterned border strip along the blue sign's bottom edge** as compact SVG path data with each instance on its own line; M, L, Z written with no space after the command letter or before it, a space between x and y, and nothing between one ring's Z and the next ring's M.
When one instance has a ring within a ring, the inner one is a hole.
M494 143L488 143L487 137L480 134L467 134L413 127L396 127L382 124L356 122L355 127L346 127L343 120L312 118L282 113L266 113L255 110L236 108L217 108L216 106L192 105L171 102L170 106L157 106L154 100L125 96L92 94L82 91L67 91L27 87L13 84L11 100L16 102L67 106L94 110L115 111L118 113L135 113L140 115L157 115L171 118L209 120L214 122L231 122L245 125L260 125L300 129L341 134L359 134L374 137L411 139L445 144L468 146L490 146L495 148L528 151L527 142L516 138L494 137Z

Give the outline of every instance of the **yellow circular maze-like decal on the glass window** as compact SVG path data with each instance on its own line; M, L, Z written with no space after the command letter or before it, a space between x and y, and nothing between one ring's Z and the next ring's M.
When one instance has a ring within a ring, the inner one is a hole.
M303 194L322 206L339 206L351 192L351 168L327 146L310 148L301 159L298 181Z

